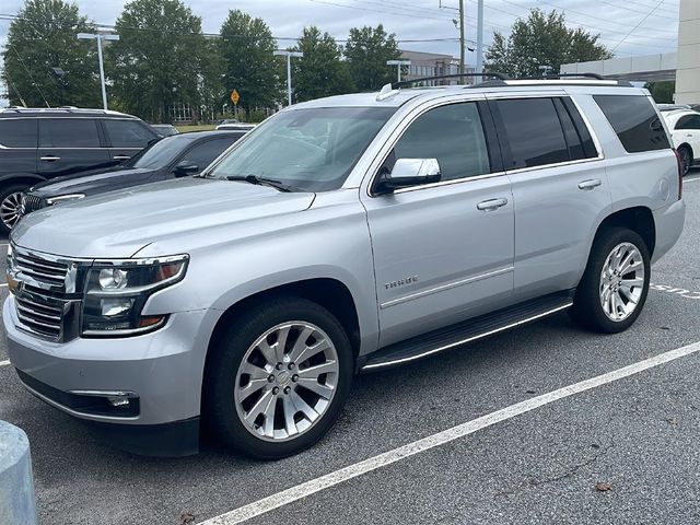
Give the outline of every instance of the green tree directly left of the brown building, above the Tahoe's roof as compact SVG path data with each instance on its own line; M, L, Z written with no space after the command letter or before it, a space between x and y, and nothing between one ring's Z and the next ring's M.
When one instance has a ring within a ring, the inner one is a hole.
M352 27L345 48L350 77L360 91L371 91L393 82L396 70L387 60L400 57L396 35L387 34L382 24L376 27Z

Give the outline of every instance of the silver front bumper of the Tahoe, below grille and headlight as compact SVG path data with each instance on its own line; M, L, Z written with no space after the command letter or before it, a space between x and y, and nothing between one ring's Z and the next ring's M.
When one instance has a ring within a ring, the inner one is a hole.
M199 417L209 311L176 313L161 329L136 337L50 342L16 328L14 298L2 308L10 361L25 387L54 407L83 420L168 429ZM210 331L209 331L210 332ZM201 338L201 340L200 340ZM84 393L100 398L85 404ZM136 402L112 408L100 393L129 393ZM197 425L184 425L191 433ZM198 427L197 427L198 428ZM117 443L118 444L118 443ZM195 451L196 452L196 451Z

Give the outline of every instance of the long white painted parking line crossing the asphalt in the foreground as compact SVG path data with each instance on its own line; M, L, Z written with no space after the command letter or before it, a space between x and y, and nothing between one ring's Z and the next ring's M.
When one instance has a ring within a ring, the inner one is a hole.
M564 386L563 388L552 390L548 394L542 394L541 396L526 399L515 405L511 405L510 407L502 408L501 410L497 410L495 412L488 413L466 423L462 423L436 434L429 435L428 438L423 438L422 440L418 440L404 446L399 446L398 448L394 448L393 451L385 452L384 454L380 454L378 456L374 456L363 462L355 463L354 465L350 465L348 467L336 470L334 472L326 474L320 478L312 479L304 483L272 494L262 500L258 500L245 506L241 506L220 516L212 517L210 520L201 522L200 525L233 525L236 523L245 522L255 516L259 516L267 512L273 511L275 509L279 509L280 506L288 505L298 500L306 498L307 495L328 489L338 483L342 483L343 481L348 481L350 479L357 478L358 476L362 476L363 474L376 470L377 468L382 468L401 459L406 459L407 457L410 457L415 454L419 454L436 446L444 445L445 443L450 443L451 441L465 438L466 435L486 429L487 427L491 427L492 424L499 423L501 421L505 421L522 413L529 412L530 410L535 410L536 408L549 405L550 402L563 399L569 396L573 396L575 394L581 394L582 392L591 390L598 386L612 383L625 377L629 377L630 375L639 374L640 372L653 369L654 366L658 366L660 364L664 364L675 359L690 355L691 353L696 353L699 351L700 341L682 348L669 350L668 352L661 353L653 358L645 359L644 361L639 361L634 364L630 364L629 366L625 366L612 372L608 372L606 374L598 375L580 383L575 383L573 385Z

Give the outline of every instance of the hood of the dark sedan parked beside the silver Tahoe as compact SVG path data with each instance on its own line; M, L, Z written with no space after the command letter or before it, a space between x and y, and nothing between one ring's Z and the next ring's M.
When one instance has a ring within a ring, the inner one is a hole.
M38 184L32 188L31 192L42 198L67 194L93 195L109 189L124 188L131 184L141 184L148 180L153 172L153 170L122 168L88 175L70 175Z

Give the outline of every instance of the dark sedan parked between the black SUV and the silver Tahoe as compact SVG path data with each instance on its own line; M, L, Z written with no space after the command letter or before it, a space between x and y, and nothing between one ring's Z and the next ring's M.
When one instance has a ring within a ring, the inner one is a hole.
M243 137L243 131L201 131L166 137L149 145L116 170L47 180L23 198L23 213L167 178L196 175Z

